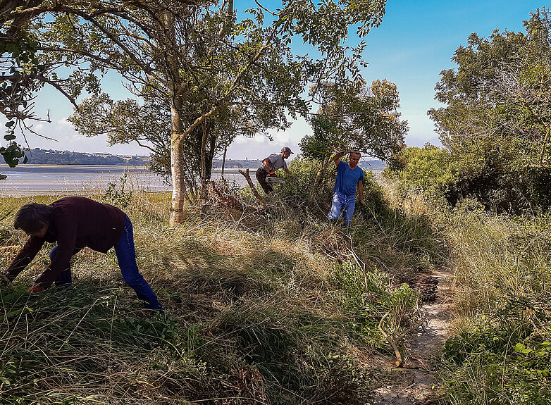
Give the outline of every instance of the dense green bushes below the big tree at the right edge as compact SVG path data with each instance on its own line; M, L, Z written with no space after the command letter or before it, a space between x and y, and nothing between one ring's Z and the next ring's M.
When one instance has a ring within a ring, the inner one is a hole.
M454 156L431 146L407 148L392 158L383 174L397 182L402 197L422 192L443 197L451 206L473 198L497 213L533 213L551 206L551 168L504 161L504 154L491 153L481 144Z

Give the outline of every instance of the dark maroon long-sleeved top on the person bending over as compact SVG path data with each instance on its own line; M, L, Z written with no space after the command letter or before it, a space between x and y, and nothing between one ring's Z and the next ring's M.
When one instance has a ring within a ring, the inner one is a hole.
M42 248L44 242L57 242L58 249L51 265L36 280L49 287L63 270L69 267L73 251L78 248L106 253L123 233L125 213L109 204L101 204L85 197L66 197L50 204L52 218L44 237L29 237L27 243L8 268L8 277L15 278Z

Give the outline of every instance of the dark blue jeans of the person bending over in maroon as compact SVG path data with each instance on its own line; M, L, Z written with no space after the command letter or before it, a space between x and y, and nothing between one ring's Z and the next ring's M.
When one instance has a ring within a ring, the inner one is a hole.
M81 249L82 248L75 249L73 254L77 254ZM50 260L54 257L56 250L57 245L50 251ZM126 284L134 289L139 299L147 302L145 305L147 308L161 311L163 307L159 304L157 296L137 268L136 251L134 248L134 230L132 228L132 222L130 222L130 218L128 218L126 214L123 235L120 235L118 242L115 244L115 252L117 254L120 273L122 273ZM68 285L70 282L71 275L70 268L68 268L64 270L56 280L56 287Z

